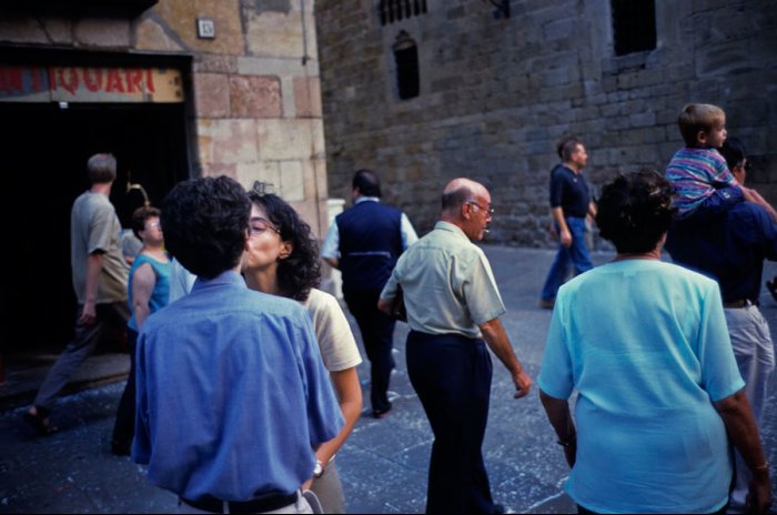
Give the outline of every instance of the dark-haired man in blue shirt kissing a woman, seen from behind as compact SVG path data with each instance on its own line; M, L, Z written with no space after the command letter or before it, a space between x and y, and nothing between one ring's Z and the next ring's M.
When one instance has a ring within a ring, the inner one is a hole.
M165 198L165 246L198 280L141 330L132 460L180 511L312 513L300 487L344 421L305 310L240 276L250 209L225 176Z

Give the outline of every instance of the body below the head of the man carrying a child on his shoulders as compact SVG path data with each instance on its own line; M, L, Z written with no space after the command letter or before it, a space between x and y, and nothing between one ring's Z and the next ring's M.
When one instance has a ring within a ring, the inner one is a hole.
M675 263L718 282L734 357L760 428L775 355L758 296L764 260L777 261L777 224L764 208L741 202L704 223L675 222L666 250ZM736 475L731 508L744 509L750 474L738 453Z

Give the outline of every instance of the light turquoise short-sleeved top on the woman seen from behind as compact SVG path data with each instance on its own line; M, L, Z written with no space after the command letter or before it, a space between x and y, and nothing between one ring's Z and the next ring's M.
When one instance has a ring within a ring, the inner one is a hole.
M713 402L745 386L718 285L653 260L609 263L558 292L539 388L573 390L569 496L599 513L712 513L731 461Z

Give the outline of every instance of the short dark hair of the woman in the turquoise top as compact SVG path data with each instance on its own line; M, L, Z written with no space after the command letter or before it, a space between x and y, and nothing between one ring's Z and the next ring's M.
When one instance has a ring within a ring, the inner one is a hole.
M650 252L675 215L672 195L672 184L655 170L618 175L602 189L596 213L599 234L619 253Z

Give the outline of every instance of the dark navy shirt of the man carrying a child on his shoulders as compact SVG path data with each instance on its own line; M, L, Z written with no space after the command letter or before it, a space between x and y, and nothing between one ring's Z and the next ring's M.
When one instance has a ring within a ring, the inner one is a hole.
M675 263L715 279L724 302L755 302L764 260L777 261L777 224L759 205L741 202L704 223L676 223L666 250Z

